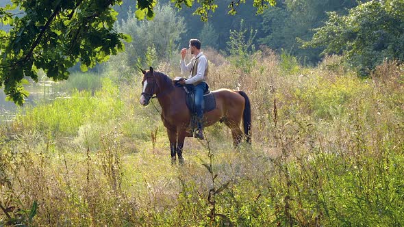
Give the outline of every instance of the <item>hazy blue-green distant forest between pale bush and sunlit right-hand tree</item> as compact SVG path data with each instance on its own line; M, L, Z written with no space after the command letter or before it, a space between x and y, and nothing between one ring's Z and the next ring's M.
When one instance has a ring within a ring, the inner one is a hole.
M159 1L160 5L169 4L170 1ZM183 8L175 11L177 17L183 18L183 27L177 27L182 31L175 37L175 43L181 46L188 46L190 38L199 38L204 46L210 46L218 51L228 51L230 31L239 30L241 21L244 21L244 28L256 33L253 44L258 48L260 45L268 46L270 49L281 53L286 51L294 55L299 62L304 64L317 64L320 61L320 53L324 48L302 49L301 43L296 38L310 40L317 27L322 27L327 21L326 12L338 12L346 14L351 8L358 5L360 1L346 0L302 0L277 1L275 7L270 7L263 14L255 15L256 9L251 3L240 5L238 13L229 16L229 0L218 1L216 12L211 13L208 23L201 22L199 16L192 16L192 12L197 8ZM134 8L134 0L125 0L121 7L116 8L120 20L129 20L133 15L127 14L129 8ZM157 13L158 16L159 13ZM175 24L177 25L177 24ZM173 27L175 25L172 25ZM164 38L166 32L154 34ZM136 39L134 39L136 42Z

